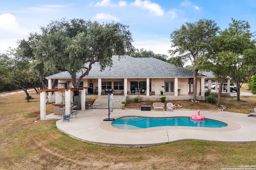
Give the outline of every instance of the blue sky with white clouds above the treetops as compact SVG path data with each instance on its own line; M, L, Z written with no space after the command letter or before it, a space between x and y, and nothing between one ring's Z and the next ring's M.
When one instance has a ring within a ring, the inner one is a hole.
M64 17L121 22L136 48L169 55L170 34L186 22L206 18L224 30L234 18L256 31L256 0L0 0L0 53Z

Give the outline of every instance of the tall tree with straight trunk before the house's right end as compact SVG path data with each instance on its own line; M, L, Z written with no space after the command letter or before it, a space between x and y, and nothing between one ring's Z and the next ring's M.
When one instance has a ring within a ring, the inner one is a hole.
M172 57L179 57L180 61L191 61L194 68L193 99L197 94L197 73L201 65L198 60L213 53L212 39L216 36L219 27L212 20L201 19L195 23L186 22L180 29L170 34Z

